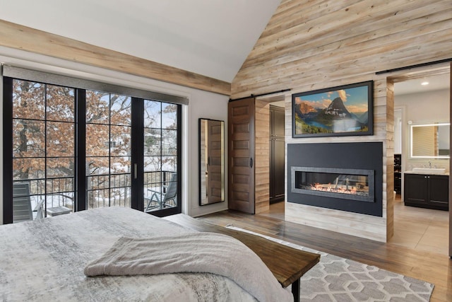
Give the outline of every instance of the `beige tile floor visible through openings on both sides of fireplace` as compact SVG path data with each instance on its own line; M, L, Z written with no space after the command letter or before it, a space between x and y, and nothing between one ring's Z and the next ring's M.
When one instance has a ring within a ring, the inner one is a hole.
M259 215L284 220L284 202ZM389 243L448 255L448 211L408 207L400 195L394 202L394 236Z

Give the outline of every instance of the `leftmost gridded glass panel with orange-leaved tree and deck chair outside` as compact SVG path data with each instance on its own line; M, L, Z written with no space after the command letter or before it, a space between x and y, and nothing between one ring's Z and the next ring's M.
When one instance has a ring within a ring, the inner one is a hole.
M13 221L33 218L38 206L72 208L74 89L30 81L10 83L12 158L6 166L12 164Z

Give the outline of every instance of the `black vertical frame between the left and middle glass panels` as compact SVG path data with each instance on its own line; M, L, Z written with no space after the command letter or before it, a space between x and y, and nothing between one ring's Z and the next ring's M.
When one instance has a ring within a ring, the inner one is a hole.
M86 209L86 91L84 89L76 89L76 170L75 170L75 191L76 202L75 211L83 211Z

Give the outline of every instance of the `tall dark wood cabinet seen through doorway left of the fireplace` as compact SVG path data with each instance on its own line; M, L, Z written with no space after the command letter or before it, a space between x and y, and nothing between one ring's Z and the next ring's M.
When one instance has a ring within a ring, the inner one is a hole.
M284 200L284 114L270 105L270 204Z

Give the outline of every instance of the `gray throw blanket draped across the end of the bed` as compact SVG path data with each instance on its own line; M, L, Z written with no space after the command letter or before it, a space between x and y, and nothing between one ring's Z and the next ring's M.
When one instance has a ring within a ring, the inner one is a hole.
M232 279L258 301L293 301L261 258L239 240L218 233L121 237L84 272L87 276L208 272Z

